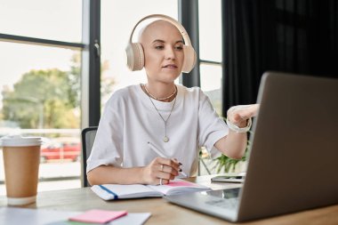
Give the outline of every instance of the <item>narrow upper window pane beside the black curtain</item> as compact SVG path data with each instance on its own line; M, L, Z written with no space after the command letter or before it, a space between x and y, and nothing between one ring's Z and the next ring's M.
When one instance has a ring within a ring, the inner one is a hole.
M199 0L199 58L221 62L221 0Z

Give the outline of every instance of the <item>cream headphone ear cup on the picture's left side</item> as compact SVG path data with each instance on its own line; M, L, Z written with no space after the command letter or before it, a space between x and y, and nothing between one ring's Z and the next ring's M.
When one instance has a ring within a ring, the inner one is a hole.
M144 52L140 43L129 43L125 48L127 67L132 70L141 70L144 67Z

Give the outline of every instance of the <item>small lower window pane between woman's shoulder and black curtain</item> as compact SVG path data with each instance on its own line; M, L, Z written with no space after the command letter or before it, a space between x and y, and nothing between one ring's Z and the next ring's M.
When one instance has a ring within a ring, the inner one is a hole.
M210 98L213 107L221 116L221 65L200 65L201 89Z

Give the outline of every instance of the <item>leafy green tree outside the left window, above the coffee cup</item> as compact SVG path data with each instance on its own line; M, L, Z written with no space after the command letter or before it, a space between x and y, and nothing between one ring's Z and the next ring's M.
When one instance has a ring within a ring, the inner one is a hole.
M4 91L5 120L17 121L21 128L76 128L79 118L76 95L79 90L69 84L68 72L52 68L31 70L14 84L13 91Z

